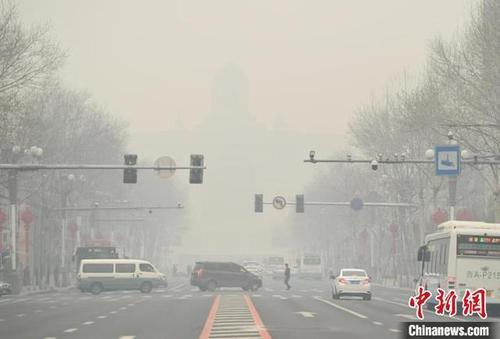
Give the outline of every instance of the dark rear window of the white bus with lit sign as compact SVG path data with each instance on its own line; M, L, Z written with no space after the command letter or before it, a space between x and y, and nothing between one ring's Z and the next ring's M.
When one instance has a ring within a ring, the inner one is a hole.
M500 236L458 234L457 255L500 257Z

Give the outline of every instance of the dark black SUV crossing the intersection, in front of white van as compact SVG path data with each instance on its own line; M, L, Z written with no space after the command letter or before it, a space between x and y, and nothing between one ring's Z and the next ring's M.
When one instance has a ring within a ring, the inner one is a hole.
M262 280L243 266L233 262L197 262L191 273L191 285L202 291L213 291L217 287L241 287L256 291L262 287Z

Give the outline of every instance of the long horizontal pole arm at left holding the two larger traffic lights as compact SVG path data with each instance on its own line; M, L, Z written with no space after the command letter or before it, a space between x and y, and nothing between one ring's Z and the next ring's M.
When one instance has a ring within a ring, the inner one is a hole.
M0 164L3 170L38 171L38 170L192 170L207 169L206 166L132 166L132 165L87 165L87 164Z

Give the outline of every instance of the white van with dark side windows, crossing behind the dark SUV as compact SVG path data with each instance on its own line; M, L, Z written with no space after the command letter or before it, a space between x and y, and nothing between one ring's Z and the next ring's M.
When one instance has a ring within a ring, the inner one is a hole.
M99 294L111 290L139 290L167 287L165 274L145 260L84 259L77 276L78 289Z

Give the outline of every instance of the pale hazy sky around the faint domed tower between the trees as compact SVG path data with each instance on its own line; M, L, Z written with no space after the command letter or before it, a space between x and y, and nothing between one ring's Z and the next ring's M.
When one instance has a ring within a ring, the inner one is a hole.
M260 122L342 133L357 106L404 70L418 72L430 39L450 37L474 1L18 3L26 23L49 22L68 49L67 84L88 89L134 134L198 124L227 63L246 73Z

